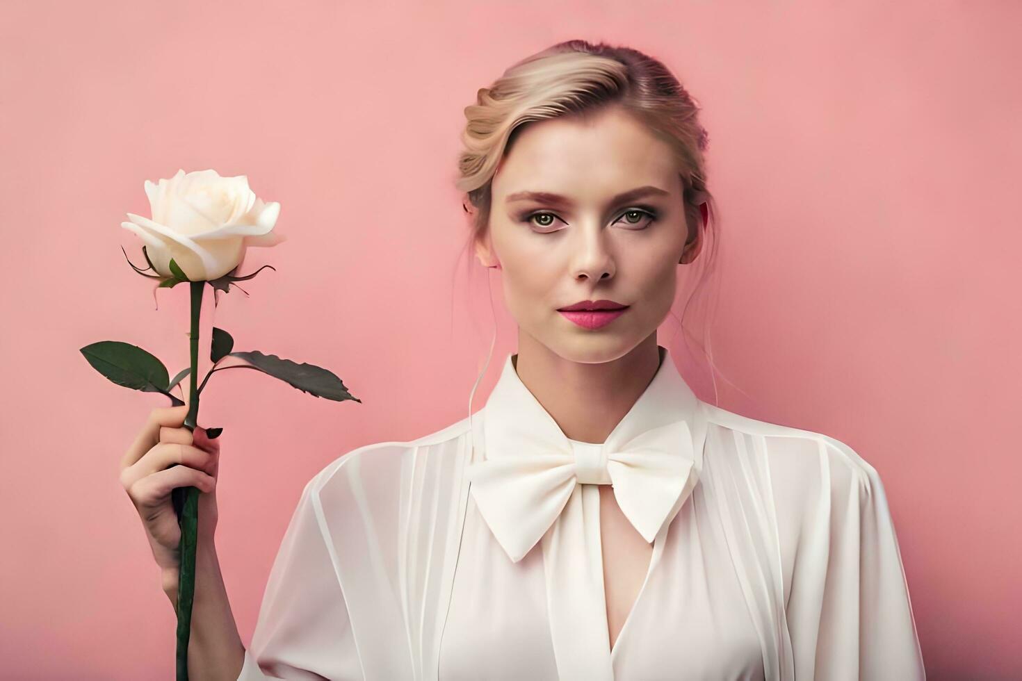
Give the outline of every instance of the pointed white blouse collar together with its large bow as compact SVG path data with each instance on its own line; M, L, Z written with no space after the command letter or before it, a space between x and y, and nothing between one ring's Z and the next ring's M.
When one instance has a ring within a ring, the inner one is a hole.
M657 346L652 381L607 436L571 440L521 382L508 354L484 407L484 461L469 466L473 496L513 562L542 538L576 483L613 484L621 510L652 542L702 469L692 433L699 399Z

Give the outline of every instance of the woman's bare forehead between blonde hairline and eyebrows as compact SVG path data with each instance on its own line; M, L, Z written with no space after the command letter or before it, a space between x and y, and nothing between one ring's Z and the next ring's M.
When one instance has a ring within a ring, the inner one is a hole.
M498 166L495 196L519 191L573 195L645 184L673 187L670 147L625 111L527 124Z

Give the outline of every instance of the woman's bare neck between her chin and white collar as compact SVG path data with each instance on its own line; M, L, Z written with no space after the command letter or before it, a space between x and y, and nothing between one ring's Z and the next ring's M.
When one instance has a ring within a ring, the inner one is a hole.
M519 330L518 353L511 360L564 435L602 443L653 380L660 353L654 332L616 359L571 361Z

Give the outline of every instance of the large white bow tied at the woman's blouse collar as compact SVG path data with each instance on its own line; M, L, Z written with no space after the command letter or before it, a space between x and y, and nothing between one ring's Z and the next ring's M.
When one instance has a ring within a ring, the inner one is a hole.
M617 505L648 542L671 512L693 470L686 421L620 442L574 442L519 430L487 443L486 460L466 475L476 506L510 556L520 561L560 516L576 484L613 485Z

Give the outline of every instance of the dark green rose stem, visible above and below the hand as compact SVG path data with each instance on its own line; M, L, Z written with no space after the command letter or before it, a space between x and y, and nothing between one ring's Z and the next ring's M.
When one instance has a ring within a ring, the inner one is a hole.
M194 432L198 420L198 323L202 308L202 287L205 282L189 282L191 287L191 331L188 334L191 350L191 372L188 380L188 416L184 426ZM181 567L178 572L178 681L188 681L188 640L191 637L192 601L195 596L195 549L198 538L198 493L197 487L177 488L185 495L178 513L181 526L179 554ZM178 504L175 504L178 508Z

